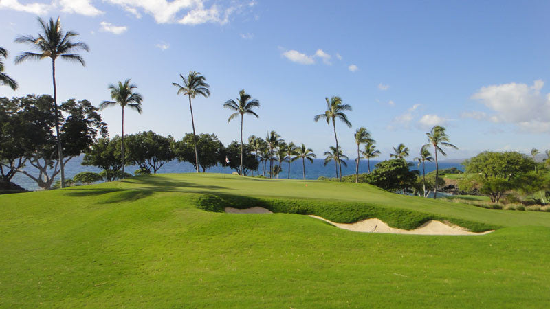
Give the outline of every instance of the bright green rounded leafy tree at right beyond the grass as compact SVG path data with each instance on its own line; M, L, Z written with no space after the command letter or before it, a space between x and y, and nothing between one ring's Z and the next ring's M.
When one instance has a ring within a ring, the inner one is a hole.
M519 152L481 152L464 161L465 178L459 182L464 191L477 188L498 202L508 190L518 187L517 178L533 168L533 159Z

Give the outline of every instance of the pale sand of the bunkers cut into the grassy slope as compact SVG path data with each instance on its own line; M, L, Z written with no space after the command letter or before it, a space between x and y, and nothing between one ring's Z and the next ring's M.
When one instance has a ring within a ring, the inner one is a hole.
M229 214L273 214L269 209L263 207L250 207L245 209L237 209L233 207L225 207L225 212ZM423 225L417 227L416 229L407 230L407 229L395 229L390 227L384 221L380 219L365 219L355 223L337 223L327 220L320 216L309 215L311 218L316 218L329 222L335 227L340 229L347 229L349 231L358 231L363 233L393 233L393 234L412 234L412 235L485 235L493 232L494 230L484 231L481 233L476 233L468 231L463 227L457 225L447 225L441 221L430 220Z

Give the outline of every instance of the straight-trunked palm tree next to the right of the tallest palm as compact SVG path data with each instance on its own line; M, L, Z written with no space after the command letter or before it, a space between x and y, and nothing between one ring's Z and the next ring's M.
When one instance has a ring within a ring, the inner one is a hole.
M124 107L128 106L129 108L137 111L137 113L142 113L142 95L137 92L133 92L133 89L136 89L135 84L130 84L130 78L124 80L124 83L118 82L118 84L110 84L109 90L111 90L111 99L113 101L103 101L99 104L99 109L103 110L109 106L119 105L122 107L122 139L120 139L120 150L122 158L122 178L124 178Z

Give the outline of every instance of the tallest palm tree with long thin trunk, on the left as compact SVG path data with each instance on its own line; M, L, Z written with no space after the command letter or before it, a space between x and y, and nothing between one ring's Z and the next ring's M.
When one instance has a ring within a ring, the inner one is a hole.
M75 52L83 49L89 51L89 47L83 42L73 42L71 39L78 36L78 33L67 31L63 32L59 17L56 21L50 19L48 23L38 18L41 32L38 36L18 36L15 39L17 43L26 43L37 49L37 53L23 52L15 58L15 64L19 64L26 60L42 60L50 58L52 60L52 81L54 84L54 108L56 113L56 135L57 135L57 152L59 156L59 165L61 166L61 187L65 187L65 166L63 164L63 148L61 148L61 134L59 132L60 113L57 106L57 86L56 86L56 60L61 58L72 62L78 62L80 65L85 65L84 59Z

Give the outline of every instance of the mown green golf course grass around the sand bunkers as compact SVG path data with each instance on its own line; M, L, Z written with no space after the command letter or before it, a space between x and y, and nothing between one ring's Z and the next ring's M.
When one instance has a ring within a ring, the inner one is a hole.
M307 187L306 187L307 185ZM357 233L386 216L497 227L486 236ZM0 196L2 307L544 307L550 214L370 185L160 174ZM204 209L208 209L205 211Z

